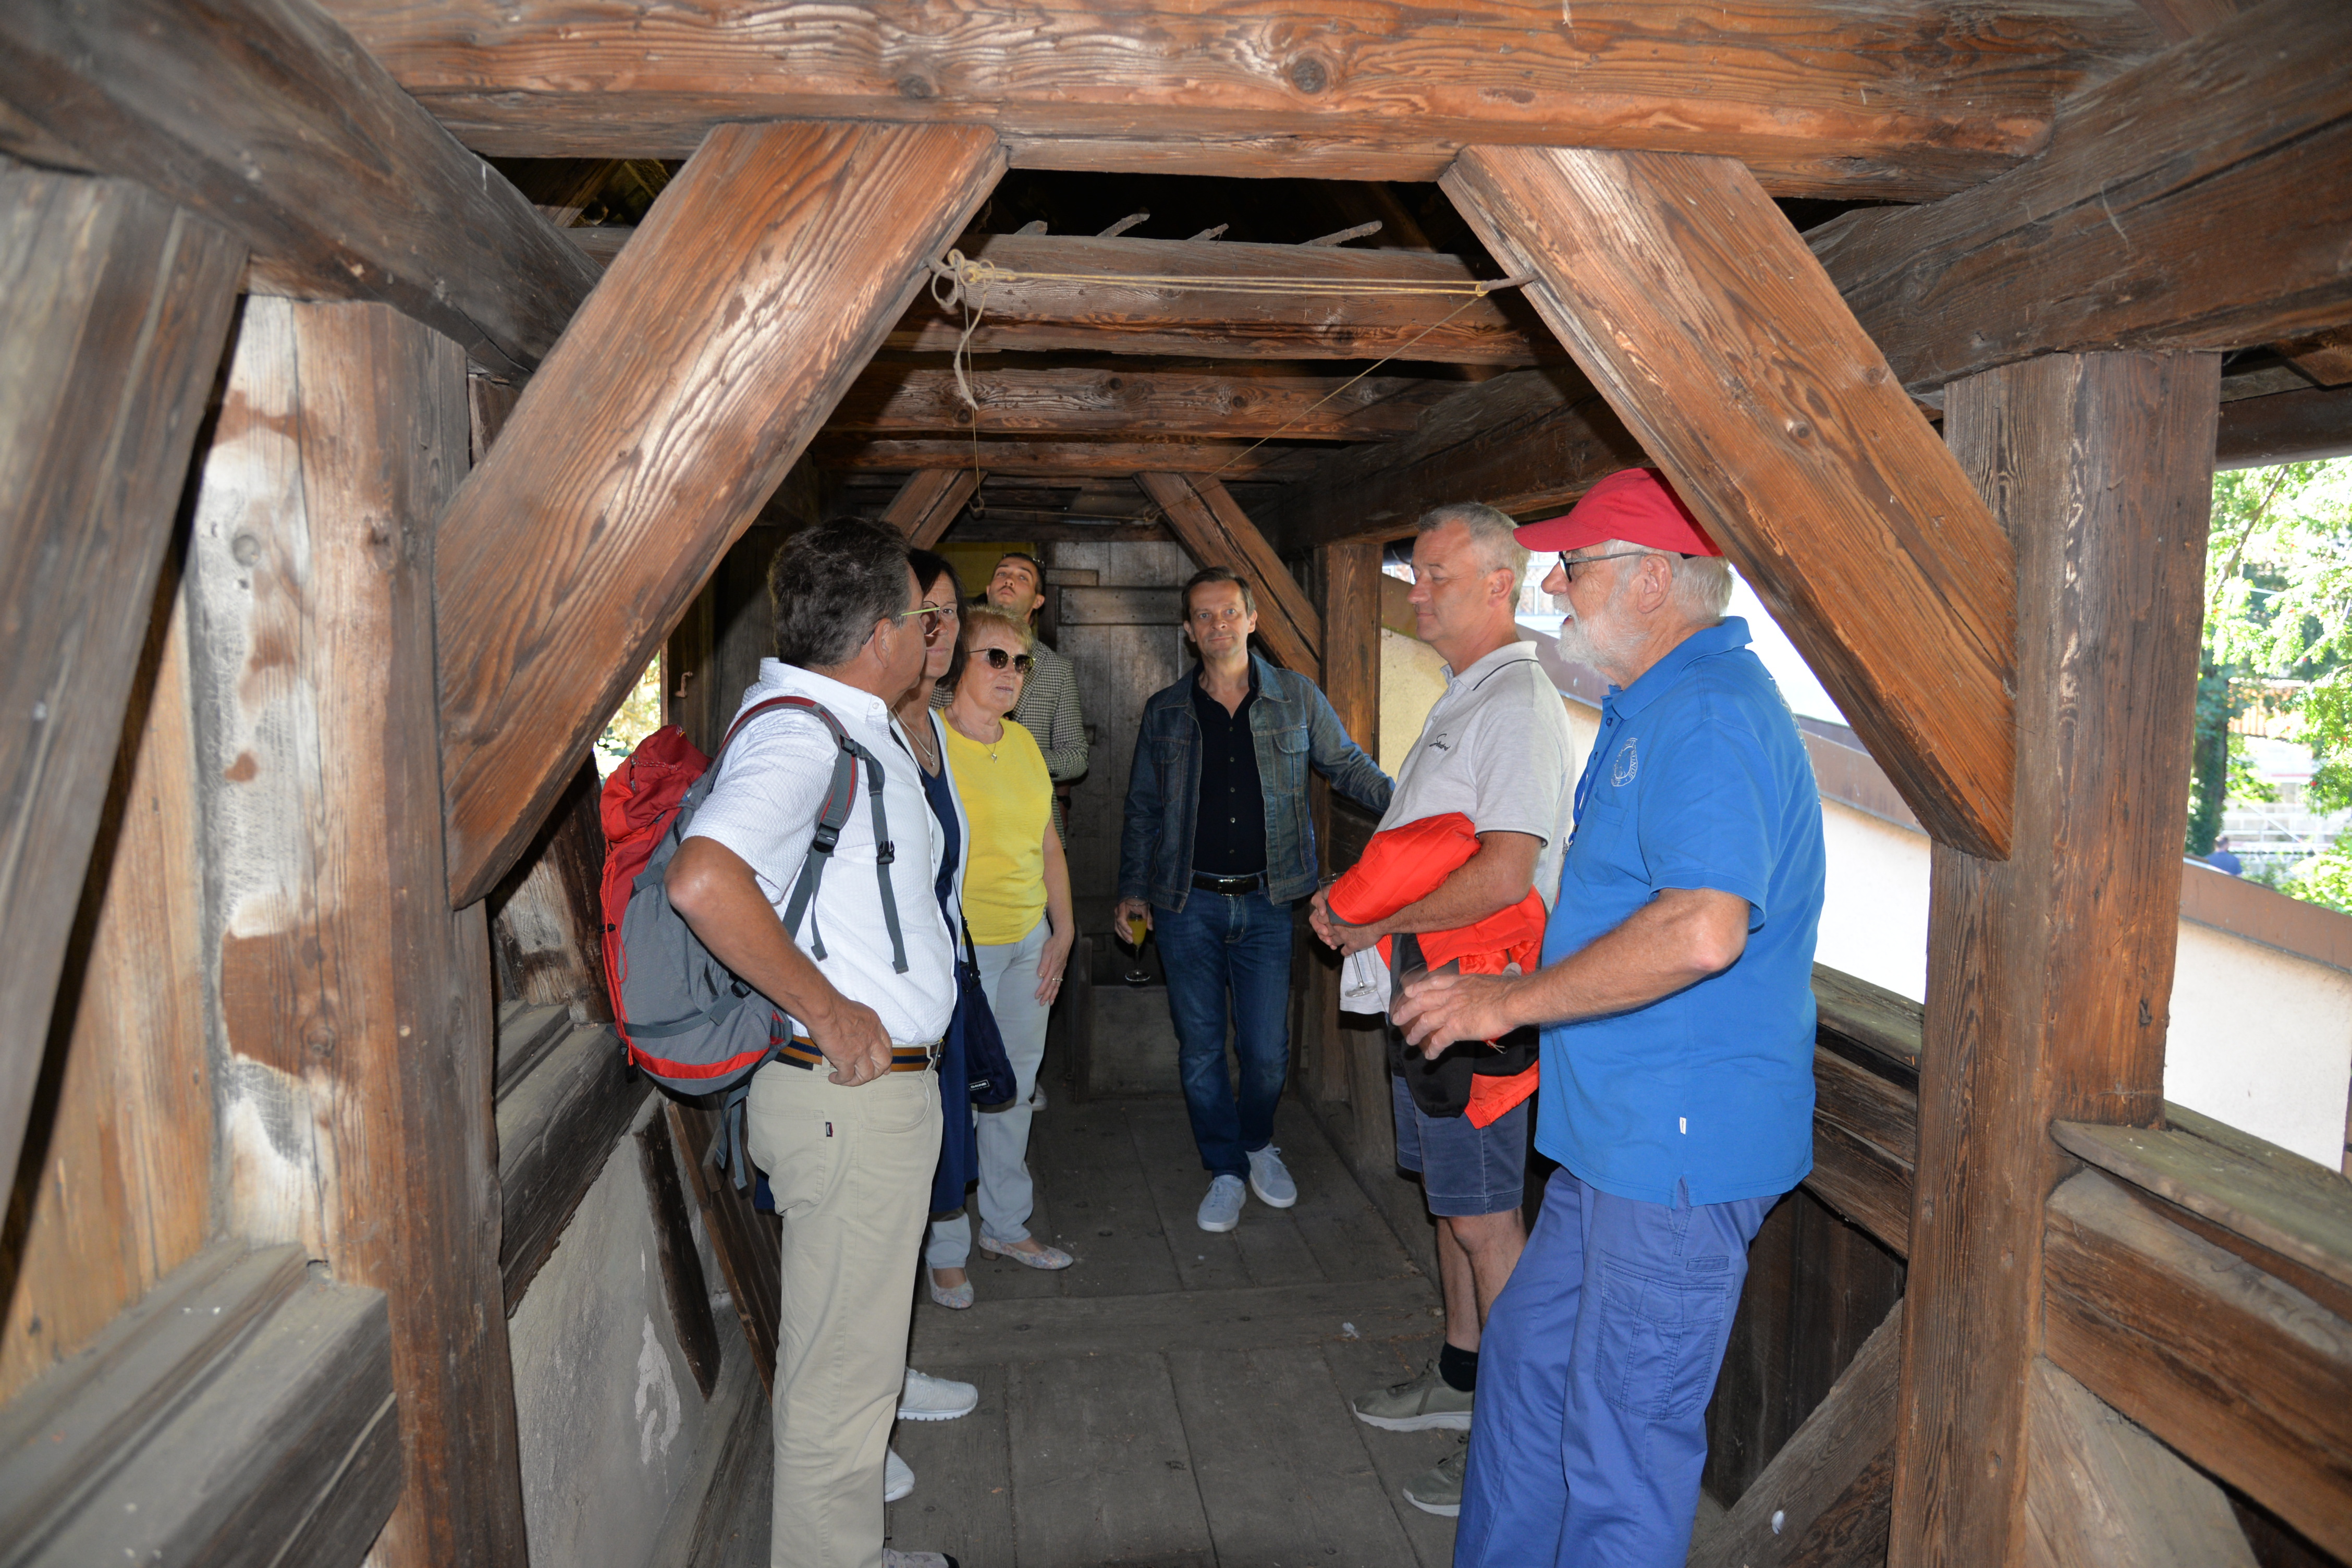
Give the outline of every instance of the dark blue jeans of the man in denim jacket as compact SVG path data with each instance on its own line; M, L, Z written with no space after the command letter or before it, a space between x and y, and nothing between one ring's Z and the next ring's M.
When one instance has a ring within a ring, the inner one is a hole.
M1183 910L1152 910L1152 929L1169 971L1176 1072L1200 1164L1216 1175L1249 1175L1249 1154L1275 1140L1275 1103L1291 1072L1291 910L1263 886L1192 889ZM1225 1072L1228 999L1242 1058L1240 1100Z

